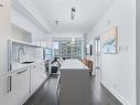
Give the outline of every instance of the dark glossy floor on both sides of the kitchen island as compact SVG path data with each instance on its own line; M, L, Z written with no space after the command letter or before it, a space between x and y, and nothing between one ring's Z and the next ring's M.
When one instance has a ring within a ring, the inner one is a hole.
M24 105L58 105L57 85L60 75L51 75L43 86ZM93 88L93 90L91 90ZM98 76L90 77L90 105L122 105L100 83Z

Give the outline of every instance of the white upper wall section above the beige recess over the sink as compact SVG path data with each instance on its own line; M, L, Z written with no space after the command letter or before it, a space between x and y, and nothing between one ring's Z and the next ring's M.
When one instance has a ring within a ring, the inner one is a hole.
M12 8L11 15L12 24L30 32L32 34L32 42L47 42L50 41L50 34L40 30L34 23L32 23L24 14L20 13L17 9Z

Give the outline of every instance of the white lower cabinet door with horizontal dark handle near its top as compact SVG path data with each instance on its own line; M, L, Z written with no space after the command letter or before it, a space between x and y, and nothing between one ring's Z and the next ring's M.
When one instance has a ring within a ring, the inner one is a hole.
M19 105L23 104L30 96L30 70L23 69L14 73L13 78L13 91L17 95Z

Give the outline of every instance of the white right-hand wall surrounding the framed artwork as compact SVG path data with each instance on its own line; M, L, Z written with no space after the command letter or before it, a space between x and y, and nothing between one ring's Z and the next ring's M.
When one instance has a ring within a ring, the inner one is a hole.
M88 33L87 42L110 27L119 28L118 54L101 54L101 83L123 105L136 105L136 1L116 0ZM128 48L128 50L127 50Z

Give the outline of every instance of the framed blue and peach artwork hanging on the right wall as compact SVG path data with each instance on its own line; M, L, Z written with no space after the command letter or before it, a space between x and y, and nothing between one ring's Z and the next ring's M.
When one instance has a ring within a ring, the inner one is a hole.
M118 27L112 27L101 35L101 49L104 54L118 53Z

